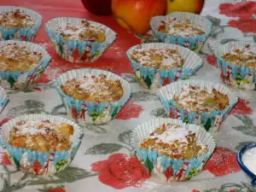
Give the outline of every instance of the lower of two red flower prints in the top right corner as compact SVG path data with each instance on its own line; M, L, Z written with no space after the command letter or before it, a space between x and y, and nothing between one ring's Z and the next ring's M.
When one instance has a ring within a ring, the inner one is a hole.
M229 26L232 26L241 30L241 32L256 33L256 19L241 18L239 20L230 20L228 24Z

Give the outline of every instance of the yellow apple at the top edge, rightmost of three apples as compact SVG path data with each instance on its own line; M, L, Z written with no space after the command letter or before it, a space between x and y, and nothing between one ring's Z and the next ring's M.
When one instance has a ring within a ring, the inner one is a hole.
M166 14L174 11L190 12L200 14L204 6L204 0L167 0L168 7Z

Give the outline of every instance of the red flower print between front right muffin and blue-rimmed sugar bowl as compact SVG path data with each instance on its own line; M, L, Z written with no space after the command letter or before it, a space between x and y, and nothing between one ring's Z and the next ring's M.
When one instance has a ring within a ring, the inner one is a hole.
M236 152L229 148L216 148L203 170L208 170L216 177L221 177L232 172L239 172L240 166L236 160Z

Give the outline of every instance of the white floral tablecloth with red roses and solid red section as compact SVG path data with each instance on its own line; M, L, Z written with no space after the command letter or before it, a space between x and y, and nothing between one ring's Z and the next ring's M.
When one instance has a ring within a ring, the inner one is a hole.
M90 125L84 130L79 152L71 166L49 177L35 177L17 172L10 165L3 150L0 151L0 192L3 191L121 191L127 192L235 192L253 190L247 177L236 162L236 153L242 145L256 142L256 95L253 91L236 90L239 103L224 121L220 131L214 133L218 148L203 171L192 180L166 185L149 178L142 166L129 154L131 130L141 122L164 116L164 109L156 96L142 90L131 75L131 65L125 52L134 44L152 41L152 38L134 36L119 27L112 17L90 15L82 3L71 0L1 0L0 5L17 5L34 9L44 22L58 16L80 17L102 22L118 33L116 42L91 64L71 64L57 57L41 26L35 39L52 56L46 72L32 89L9 91L10 102L1 113L2 123L13 116L25 113L48 113L66 116L64 107L51 80L73 68L95 67L117 73L131 83L133 95L125 108L109 125ZM253 15L254 14L254 15ZM212 21L212 35L201 49L204 66L194 79L220 82L212 49L229 41L256 42L256 2L207 0L201 15Z

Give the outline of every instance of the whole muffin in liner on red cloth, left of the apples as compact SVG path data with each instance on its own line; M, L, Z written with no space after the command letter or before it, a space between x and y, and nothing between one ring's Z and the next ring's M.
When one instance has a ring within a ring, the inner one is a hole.
M44 28L56 53L73 63L96 61L116 38L108 26L79 18L54 18Z

